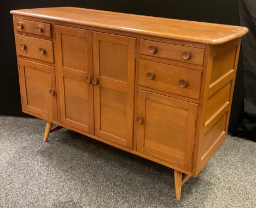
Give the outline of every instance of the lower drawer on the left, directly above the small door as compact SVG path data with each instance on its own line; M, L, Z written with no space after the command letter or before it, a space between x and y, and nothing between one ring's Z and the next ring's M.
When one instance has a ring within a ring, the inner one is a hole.
M15 42L17 54L54 63L53 41L15 34Z

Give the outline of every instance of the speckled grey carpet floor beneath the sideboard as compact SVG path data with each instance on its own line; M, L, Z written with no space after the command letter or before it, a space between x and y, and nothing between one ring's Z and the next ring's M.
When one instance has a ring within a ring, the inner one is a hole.
M177 201L173 170L33 118L0 117L0 207L256 207L256 143L229 137Z

